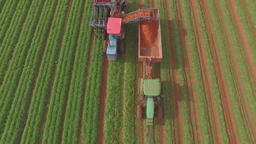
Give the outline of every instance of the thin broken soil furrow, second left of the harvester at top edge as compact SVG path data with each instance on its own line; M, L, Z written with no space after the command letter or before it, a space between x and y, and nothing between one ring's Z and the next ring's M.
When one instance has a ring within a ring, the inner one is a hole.
M67 10L66 19L65 19L65 23L64 23L64 27L63 27L62 38L61 38L61 41L59 43L59 51L57 52L57 57L58 58L59 58L59 53L60 53L60 50L61 50L61 47L62 47L62 42L63 42L63 38L64 38L64 33L66 31L66 26L67 26L67 23L68 23L68 18L69 18L69 13L70 13L70 10L71 10L72 2L73 2L73 0L70 0L69 7L68 7L68 10ZM49 102L50 102L50 93L53 90L53 81L54 81L55 76L56 76L56 68L57 67L55 66L55 68L53 70L52 82L51 82L50 89L49 89L49 97L46 100L46 105L49 105ZM47 111L44 114L43 123L42 123L41 128L40 128L40 134L41 135L43 135L43 130L44 130L45 123L46 123L46 116L47 116ZM42 144L42 139L39 140L39 144Z

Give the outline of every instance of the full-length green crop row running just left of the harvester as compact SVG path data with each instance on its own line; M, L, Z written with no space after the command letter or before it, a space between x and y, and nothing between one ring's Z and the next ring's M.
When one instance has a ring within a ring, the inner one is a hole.
M85 91L85 79L90 46L92 40L92 28L89 17L92 14L92 1L85 1L85 12L83 14L82 26L75 55L74 70L69 90L69 100L64 120L62 143L75 144L79 136L80 120L82 115L82 98Z

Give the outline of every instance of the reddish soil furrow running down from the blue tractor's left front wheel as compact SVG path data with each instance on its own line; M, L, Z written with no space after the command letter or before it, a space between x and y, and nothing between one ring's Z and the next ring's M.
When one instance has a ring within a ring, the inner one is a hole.
M100 94L100 110L99 110L99 126L98 126L98 144L104 143L104 112L106 105L106 97L107 97L107 80L108 80L108 59L105 57L104 59L104 71L102 77L102 90Z

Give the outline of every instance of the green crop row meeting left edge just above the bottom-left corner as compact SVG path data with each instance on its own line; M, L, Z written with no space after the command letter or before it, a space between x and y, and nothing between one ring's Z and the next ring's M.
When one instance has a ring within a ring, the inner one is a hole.
M13 103L13 95L16 91L17 84L20 79L20 73L23 70L23 64L26 59L26 54L29 49L31 39L33 38L36 25L39 20L43 2L43 0L33 1L29 13L27 15L27 19L23 25L23 29L21 32L21 36L18 40L18 44L14 48L13 58L10 61L9 68L3 79L3 84L0 87L0 136L3 133L3 129L7 120L7 115L9 114L11 105ZM7 49L10 49L10 47L7 46ZM3 59L6 57L3 56L1 58ZM6 60L6 63L1 63L1 68L3 68L4 65L7 67L7 64L8 60Z

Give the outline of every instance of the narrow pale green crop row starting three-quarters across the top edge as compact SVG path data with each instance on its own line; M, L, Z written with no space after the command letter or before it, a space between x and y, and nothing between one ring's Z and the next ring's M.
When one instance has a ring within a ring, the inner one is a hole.
M212 80L212 88L213 88L213 98L215 100L215 104L216 104L216 108L217 108L217 112L218 112L218 118L220 120L220 130L221 130L221 137L222 137L222 142L223 143L228 143L229 142L229 138L228 135L226 133L226 122L225 122L225 118L223 115L223 107L222 107L222 101L221 101L221 95L220 95L220 91L219 91L219 86L217 83L217 76L216 76L216 71L214 69L214 62L213 62L213 55L211 52L211 47L210 47L210 42L209 42L209 37L207 36L207 26L204 22L203 19L203 12L200 6L200 1L199 0L195 0L196 2L196 9L198 12L198 16L199 16L199 23L200 23L200 27L202 28L201 34L202 34L202 38L203 38L203 43L204 43L204 49L206 51L206 55L207 55L207 63L209 66L209 73L208 75L210 75L211 80Z

